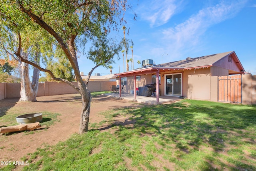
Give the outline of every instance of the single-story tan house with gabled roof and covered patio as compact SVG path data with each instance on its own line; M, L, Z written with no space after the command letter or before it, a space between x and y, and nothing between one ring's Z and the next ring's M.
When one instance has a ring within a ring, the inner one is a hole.
M124 92L147 84L156 84L156 101L160 96L184 96L188 99L216 101L216 76L245 74L244 68L234 51L186 58L165 64L147 64L142 68L115 74L117 85L124 85ZM121 94L120 94L121 96ZM136 99L136 93L134 93Z

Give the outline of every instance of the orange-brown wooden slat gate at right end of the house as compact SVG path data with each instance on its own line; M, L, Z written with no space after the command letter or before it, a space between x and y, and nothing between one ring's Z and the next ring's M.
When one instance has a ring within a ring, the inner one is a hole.
M218 101L242 103L242 76L218 77Z

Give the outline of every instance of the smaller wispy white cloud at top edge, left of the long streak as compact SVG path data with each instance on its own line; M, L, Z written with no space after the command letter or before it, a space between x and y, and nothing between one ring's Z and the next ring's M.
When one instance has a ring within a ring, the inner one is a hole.
M146 4L142 5L142 18L150 22L150 26L161 26L170 20L177 8L176 0L147 0Z

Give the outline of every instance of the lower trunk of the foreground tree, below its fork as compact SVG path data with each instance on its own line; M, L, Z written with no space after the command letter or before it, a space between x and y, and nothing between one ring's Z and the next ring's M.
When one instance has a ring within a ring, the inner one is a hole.
M81 93L82 95L82 113L80 118L80 125L79 125L79 134L85 133L88 131L88 124L89 124L89 117L90 117L90 107L91 107L91 100L92 96L90 91L88 92L88 97L86 97L86 93Z

